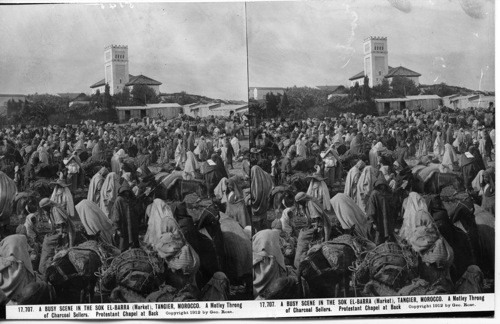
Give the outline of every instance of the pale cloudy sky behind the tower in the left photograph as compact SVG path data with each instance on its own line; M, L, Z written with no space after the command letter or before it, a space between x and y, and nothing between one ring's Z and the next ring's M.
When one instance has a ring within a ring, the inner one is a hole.
M0 93L90 92L104 78L104 47L119 44L130 74L162 92L247 100L244 3L0 9Z

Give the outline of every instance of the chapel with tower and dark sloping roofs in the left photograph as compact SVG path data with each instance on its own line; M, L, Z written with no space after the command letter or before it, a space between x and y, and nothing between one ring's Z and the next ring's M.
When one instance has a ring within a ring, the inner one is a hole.
M156 94L159 94L162 84L144 75L133 76L129 74L128 46L124 45L109 45L104 48L104 79L90 86L92 94L98 90L100 93L104 93L106 83L109 84L111 95L122 92L125 87L132 90L136 84L147 85L153 88Z

